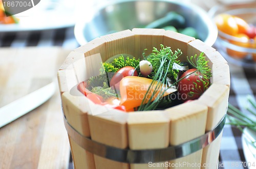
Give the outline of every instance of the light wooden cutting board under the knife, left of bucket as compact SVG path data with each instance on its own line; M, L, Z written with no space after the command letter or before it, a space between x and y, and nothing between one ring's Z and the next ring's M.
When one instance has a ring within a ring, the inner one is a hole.
M0 107L55 81L47 102L0 128L0 168L67 168L57 70L70 50L60 47L0 48Z

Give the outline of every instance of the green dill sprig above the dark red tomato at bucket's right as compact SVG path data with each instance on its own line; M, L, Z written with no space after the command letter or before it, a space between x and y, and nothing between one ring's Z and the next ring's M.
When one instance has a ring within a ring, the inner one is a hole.
M208 66L209 61L206 61L204 57L204 52L201 52L199 57L197 57L197 54L190 58L187 57L187 61L201 73L205 80L210 79L211 69Z

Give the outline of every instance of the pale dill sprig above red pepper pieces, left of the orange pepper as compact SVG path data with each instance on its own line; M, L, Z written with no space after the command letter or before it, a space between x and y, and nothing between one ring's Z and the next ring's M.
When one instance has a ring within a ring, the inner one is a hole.
M92 93L100 95L103 97L103 99L108 99L110 97L117 97L117 94L115 92L115 90L113 90L112 88L110 88L108 86L108 83L103 82L103 86L97 86L92 88L91 90Z

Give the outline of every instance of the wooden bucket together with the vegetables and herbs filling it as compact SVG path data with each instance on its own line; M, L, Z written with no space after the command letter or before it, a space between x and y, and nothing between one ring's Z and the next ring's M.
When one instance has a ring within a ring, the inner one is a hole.
M229 67L201 40L164 29L105 35L72 51L58 81L76 168L217 167Z

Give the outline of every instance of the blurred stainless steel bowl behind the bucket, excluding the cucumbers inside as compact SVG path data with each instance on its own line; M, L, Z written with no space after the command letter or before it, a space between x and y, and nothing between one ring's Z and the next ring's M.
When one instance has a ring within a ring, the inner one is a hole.
M103 1L102 1L103 2ZM80 45L110 34L135 27L143 27L166 13L175 11L186 20L185 26L194 27L199 39L212 46L218 36L218 30L207 13L190 3L172 0L117 0L103 4L93 13L84 14L84 18L75 24L75 37Z

